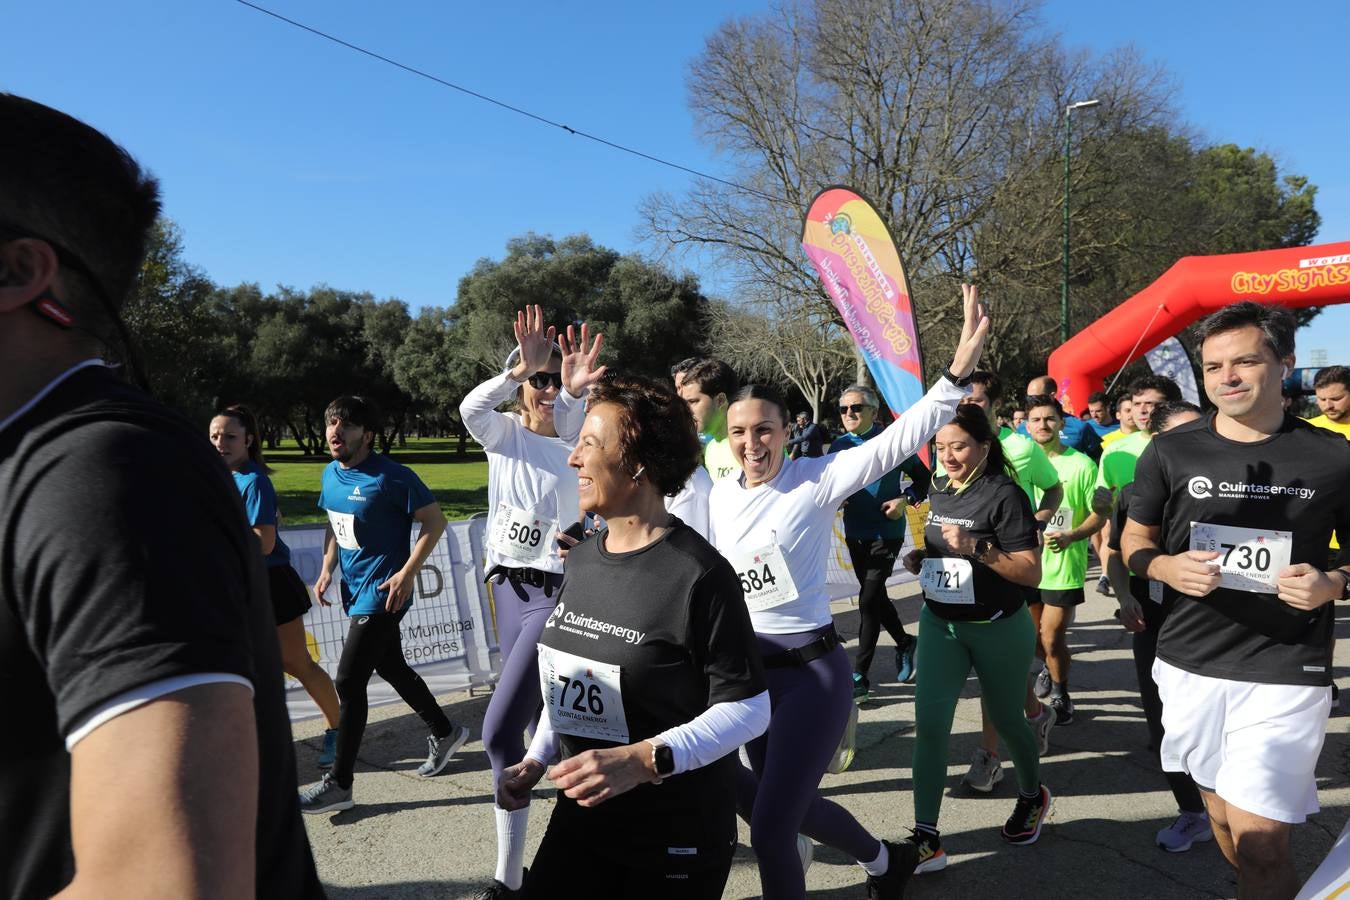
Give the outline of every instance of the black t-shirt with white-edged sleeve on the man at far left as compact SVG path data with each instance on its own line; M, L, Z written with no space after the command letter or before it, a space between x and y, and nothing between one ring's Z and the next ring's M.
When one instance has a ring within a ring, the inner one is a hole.
M254 687L256 896L321 897L262 551L205 429L80 370L0 430L0 896L73 877L66 735L127 691L221 672Z

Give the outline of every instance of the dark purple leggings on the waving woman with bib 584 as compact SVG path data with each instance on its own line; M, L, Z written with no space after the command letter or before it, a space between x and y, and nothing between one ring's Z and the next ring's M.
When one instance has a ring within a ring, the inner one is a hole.
M768 656L810 644L834 626L799 634L756 634ZM745 745L753 772L741 766L736 807L751 824L765 897L805 897L796 834L871 862L879 842L818 787L838 749L853 702L852 667L842 646L806 665L765 669L774 707L768 731Z

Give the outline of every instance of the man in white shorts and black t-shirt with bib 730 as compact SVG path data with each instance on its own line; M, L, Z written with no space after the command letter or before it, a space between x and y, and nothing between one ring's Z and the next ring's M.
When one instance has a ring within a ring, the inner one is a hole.
M1172 611L1153 677L1162 766L1200 785L1239 897L1293 897L1291 826L1318 811L1331 706L1332 529L1350 533L1350 444L1284 413L1295 320L1242 302L1197 327L1216 413L1153 440L1120 536ZM1150 588L1153 590L1153 588Z

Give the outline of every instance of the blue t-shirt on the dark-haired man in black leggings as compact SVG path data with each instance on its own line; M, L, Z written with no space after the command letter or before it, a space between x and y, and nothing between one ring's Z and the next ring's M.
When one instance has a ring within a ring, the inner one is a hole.
M417 475L382 453L343 468L324 468L319 507L338 538L342 606L348 615L385 613L387 591L378 587L412 556L413 513L435 502ZM412 606L412 598L408 599Z

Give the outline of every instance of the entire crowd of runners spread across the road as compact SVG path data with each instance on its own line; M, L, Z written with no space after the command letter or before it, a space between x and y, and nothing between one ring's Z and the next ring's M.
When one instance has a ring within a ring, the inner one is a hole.
M0 892L139 896L153 870L165 896L321 896L300 814L358 801L371 676L427 727L418 775L470 737L398 627L446 518L374 452L378 409L338 397L323 565L302 584L248 409L189 425L99 359L158 213L154 179L11 94L0 134L0 677L18 719L0 743ZM1018 796L1000 834L1035 843L1053 804L1041 757L1075 722L1065 636L1092 556L1176 797L1154 842L1216 841L1239 896L1295 895L1332 603L1350 599L1335 544L1350 534L1350 370L1319 375L1322 416L1289 414L1295 320L1239 302L1196 328L1207 412L1161 376L1094 394L1083 417L1040 376L1013 409L979 368L990 321L973 286L963 310L927 394L883 426L875 391L846 387L845 434L824 455L790 452L806 424L722 360L670 379L608 371L601 335L520 312L501 374L460 405L489 459L482 573L501 646L482 733L498 855L481 897L720 897L737 816L765 897L805 896L815 843L857 862L865 896L900 897L948 865L940 811L972 671L984 734L964 781L991 791L1006 749ZM840 509L852 653L825 583ZM917 634L887 595L896 564L922 588ZM350 617L336 679L304 645L312 598ZM882 629L895 657L878 675ZM325 772L304 788L284 669L328 726ZM872 679L892 675L914 684L899 839L818 791ZM525 860L545 777L558 801Z

